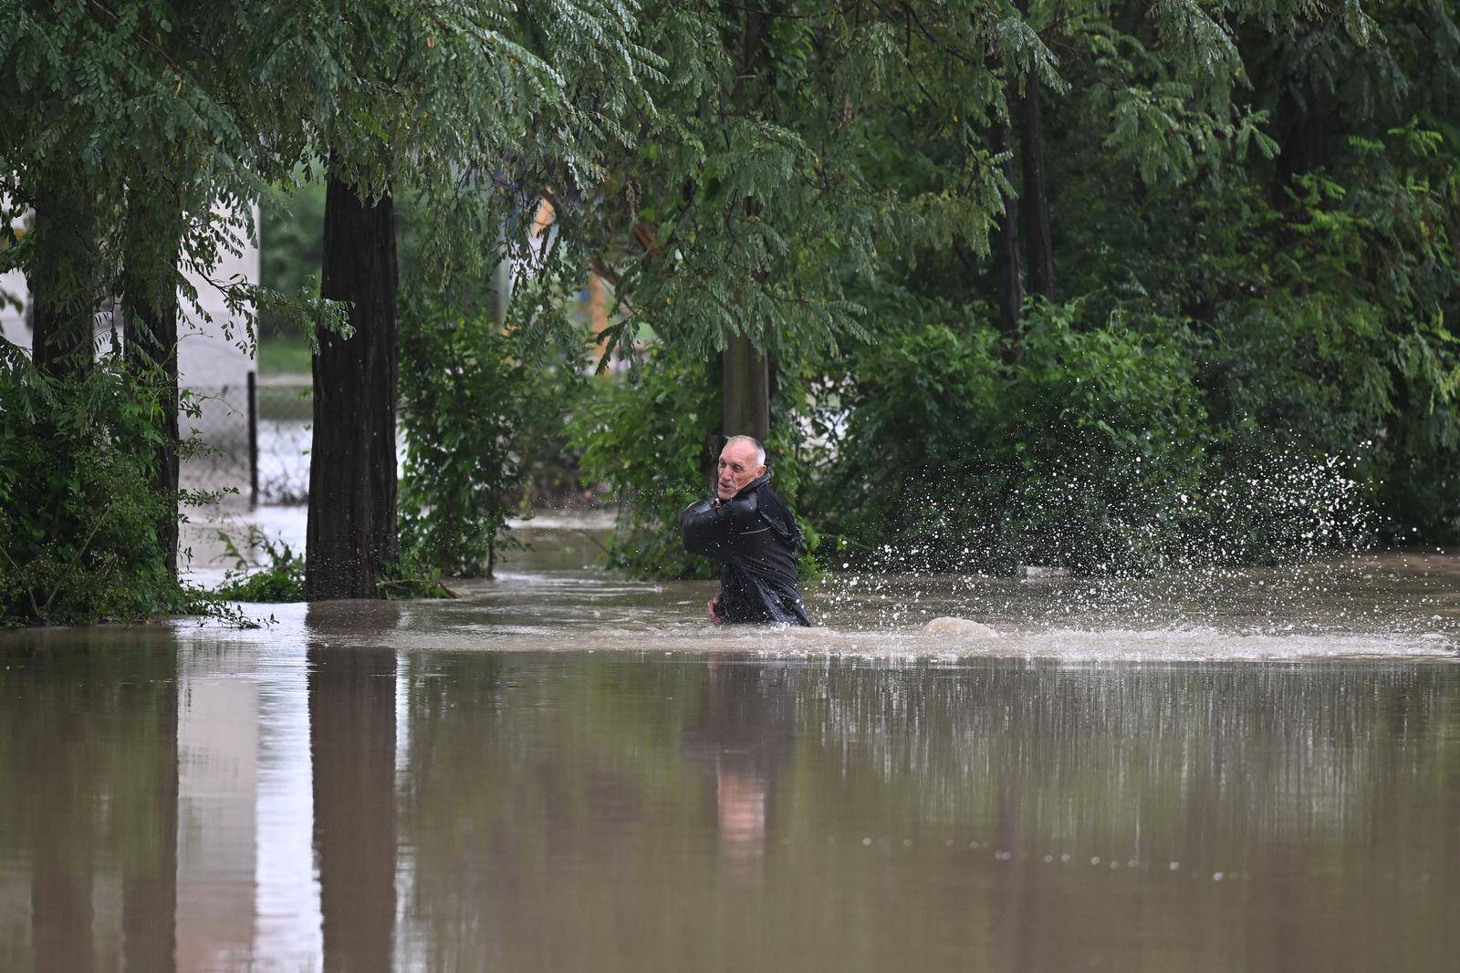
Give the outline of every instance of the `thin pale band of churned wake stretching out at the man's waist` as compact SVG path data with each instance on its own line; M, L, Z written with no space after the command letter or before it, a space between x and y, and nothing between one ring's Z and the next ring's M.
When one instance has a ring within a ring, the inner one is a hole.
M937 614L845 611L819 627L711 626L694 617L702 585L575 585L527 576L510 586L463 592L451 602L383 605L318 604L276 613L285 627L330 645L388 645L423 652L613 652L737 654L762 658L943 659L1025 658L1066 662L1228 659L1460 658L1457 619L1391 619L1387 629L1259 620L1234 613L1221 624L1183 624L1148 611L1148 620L1080 617L1053 611L1006 611L980 619ZM1007 607L1007 605L1006 605ZM892 616L896 616L894 620Z

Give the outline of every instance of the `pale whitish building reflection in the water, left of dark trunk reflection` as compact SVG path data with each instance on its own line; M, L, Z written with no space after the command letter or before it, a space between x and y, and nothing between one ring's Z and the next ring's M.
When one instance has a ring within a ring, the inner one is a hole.
M194 640L178 672L178 967L318 969L302 646Z

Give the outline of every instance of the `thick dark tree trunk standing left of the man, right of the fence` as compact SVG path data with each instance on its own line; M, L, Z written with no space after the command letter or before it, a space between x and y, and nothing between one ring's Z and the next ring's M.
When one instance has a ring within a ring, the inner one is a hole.
M396 226L390 194L369 203L330 177L320 293L350 303L355 334L320 336L305 597L375 598L396 560Z

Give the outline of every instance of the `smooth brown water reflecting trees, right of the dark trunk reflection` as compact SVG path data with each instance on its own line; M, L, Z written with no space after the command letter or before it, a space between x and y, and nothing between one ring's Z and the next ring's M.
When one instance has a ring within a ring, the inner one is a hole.
M1460 891L1442 667L406 658L409 967L1426 969Z

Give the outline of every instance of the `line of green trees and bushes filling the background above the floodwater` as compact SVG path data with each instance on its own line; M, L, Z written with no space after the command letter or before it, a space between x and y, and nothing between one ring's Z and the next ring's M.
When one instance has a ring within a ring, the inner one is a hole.
M834 566L1453 541L1454 15L12 0L3 611L185 601L181 268L311 182L317 289L218 282L317 341L311 598L489 566L543 443L612 487L618 565L691 572L673 515L737 432ZM575 376L590 274L626 382Z

